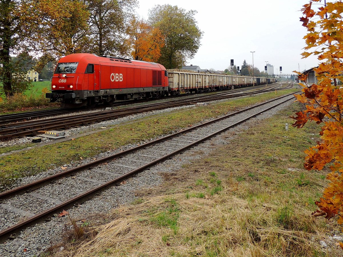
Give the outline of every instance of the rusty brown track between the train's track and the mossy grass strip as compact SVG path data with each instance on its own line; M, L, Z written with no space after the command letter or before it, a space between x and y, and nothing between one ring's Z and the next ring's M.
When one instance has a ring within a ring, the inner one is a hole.
M284 88L276 88L280 85L276 85L272 88L262 89L254 92L249 93L236 93L236 94L229 94L229 93L222 93L222 95L211 95L206 97L192 97L185 100L173 100L167 101L162 103L152 103L144 106L135 106L135 107L128 107L122 108L117 110L108 110L103 112L97 113L85 113L85 114L76 114L70 115L63 118L50 118L44 120L34 120L34 121L25 121L25 122L17 122L12 124L2 125L0 128L0 140L21 137L21 136L28 136L35 133L38 133L42 130L57 130L57 129L68 129L69 127L76 126L76 125L85 125L94 122L101 122L106 120L112 120L124 116L128 116L131 114L137 114L142 112L149 112L154 110L161 110L166 108L172 107L179 107L185 105L193 105L197 102L207 102L207 101L214 101L214 100L222 100L227 98L239 97L239 96L246 96L246 95L255 95L265 92L270 92L274 90L283 90L286 88L291 88L293 85L289 84Z

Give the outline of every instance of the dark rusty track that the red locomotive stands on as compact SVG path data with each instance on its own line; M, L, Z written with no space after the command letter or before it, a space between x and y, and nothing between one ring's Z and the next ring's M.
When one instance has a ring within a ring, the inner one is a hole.
M231 90L230 92L233 91L245 91L245 90L252 90L256 88L263 87L262 86L256 86L256 87L249 87L245 89L234 89ZM201 93L202 94L202 93ZM222 92L219 92L217 94L223 94ZM189 95L187 94L182 94L174 97L187 97ZM170 98L167 98L170 99ZM119 101L115 102L112 105L108 107L116 107L116 106L122 106L122 105L128 105L132 103L139 103L139 102L146 102L149 100L126 100L126 101ZM9 123L15 123L15 122L20 122L20 121L29 121L29 120L34 120L34 119L39 119L39 118L45 118L53 115L61 115L61 114L68 114L68 113L73 113L77 111L88 111L88 110L94 110L94 109L101 109L104 108L105 106L97 107L97 108L59 108L59 109L51 109L51 110L40 110L40 111L29 111L29 112L22 112L22 113L12 113L12 114L2 114L0 115L0 127L1 125L9 124Z

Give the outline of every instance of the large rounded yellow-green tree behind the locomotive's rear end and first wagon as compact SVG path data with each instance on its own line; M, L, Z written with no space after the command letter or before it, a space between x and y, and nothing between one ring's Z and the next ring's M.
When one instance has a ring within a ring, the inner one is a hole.
M202 32L194 18L194 10L186 11L176 5L156 5L149 13L149 22L159 28L165 38L158 62L167 69L181 68L200 47Z

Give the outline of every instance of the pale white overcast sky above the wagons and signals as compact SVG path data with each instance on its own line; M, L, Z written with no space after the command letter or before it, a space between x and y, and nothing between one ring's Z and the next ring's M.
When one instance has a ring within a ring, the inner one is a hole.
M177 5L186 10L196 10L200 30L204 33L201 46L187 64L201 69L225 70L234 59L241 66L245 59L264 70L265 61L282 73L310 69L318 65L315 57L301 59L305 46L305 27L299 17L307 0L241 0L241 1L187 1L139 0L137 13L144 19L156 4ZM280 73L280 72L279 72Z

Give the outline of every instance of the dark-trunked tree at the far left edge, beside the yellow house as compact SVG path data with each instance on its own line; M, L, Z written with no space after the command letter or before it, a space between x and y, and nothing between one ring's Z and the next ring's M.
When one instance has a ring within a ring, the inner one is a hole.
M33 24L39 24L39 16L30 1L0 1L0 81L6 97L24 91L30 83L24 79L20 62L13 62L11 55L25 56L31 50ZM22 57L20 57L21 59ZM15 89L15 90L14 90Z

